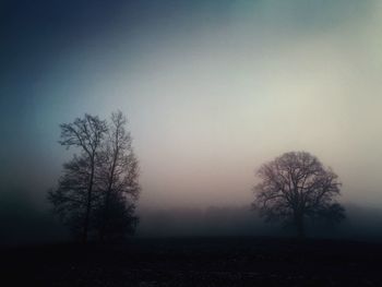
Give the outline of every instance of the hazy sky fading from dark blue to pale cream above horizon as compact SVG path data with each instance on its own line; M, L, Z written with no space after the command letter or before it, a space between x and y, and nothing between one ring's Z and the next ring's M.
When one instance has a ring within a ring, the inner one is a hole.
M248 205L289 151L382 206L381 26L378 0L1 1L2 198L46 204L59 124L119 109L141 208Z

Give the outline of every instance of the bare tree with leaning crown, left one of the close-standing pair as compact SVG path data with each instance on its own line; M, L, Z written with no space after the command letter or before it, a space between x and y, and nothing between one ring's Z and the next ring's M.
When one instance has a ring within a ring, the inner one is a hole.
M49 200L55 210L69 219L82 226L82 241L87 241L91 211L95 201L94 186L97 155L103 139L107 132L106 122L98 117L85 115L72 123L60 124L61 145L80 148L81 156L63 166L64 175L59 180L59 188L49 192ZM70 216L69 216L70 215Z

